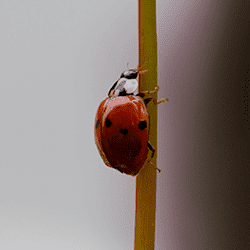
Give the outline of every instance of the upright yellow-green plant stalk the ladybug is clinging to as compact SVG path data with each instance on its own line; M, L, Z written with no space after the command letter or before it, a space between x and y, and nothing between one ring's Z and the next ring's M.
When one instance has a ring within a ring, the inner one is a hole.
M157 86L156 1L139 0L139 65L148 72L139 76L139 91ZM155 94L154 94L155 95ZM157 105L148 104L150 115L149 141L157 157ZM135 250L153 250L155 240L156 170L147 162L136 178Z

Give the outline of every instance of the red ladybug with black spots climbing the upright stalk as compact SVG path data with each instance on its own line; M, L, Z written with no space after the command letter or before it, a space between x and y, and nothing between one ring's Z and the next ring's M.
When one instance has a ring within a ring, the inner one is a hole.
M136 78L146 71L139 71L139 67L124 71L110 88L108 97L101 102L95 117L95 143L104 163L132 176L143 167L148 149L152 152L151 159L155 153L148 141L149 114L146 105L151 100L154 104L168 101L163 99L157 102L152 97L143 99L148 94L156 93L158 86L154 91L135 95L138 89Z

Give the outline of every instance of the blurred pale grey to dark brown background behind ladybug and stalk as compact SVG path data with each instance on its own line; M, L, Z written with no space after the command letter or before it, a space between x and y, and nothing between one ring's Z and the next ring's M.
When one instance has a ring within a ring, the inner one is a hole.
M156 250L249 249L249 1L157 1ZM0 1L0 248L129 250L135 178L94 118L138 65L137 1ZM150 74L150 72L148 72Z

